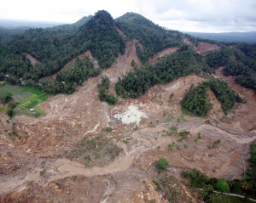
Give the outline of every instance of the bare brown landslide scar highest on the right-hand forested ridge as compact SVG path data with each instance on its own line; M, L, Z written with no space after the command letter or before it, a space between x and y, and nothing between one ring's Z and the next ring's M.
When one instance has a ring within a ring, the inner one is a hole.
M217 44L212 44L208 42L199 42L198 46L195 46L194 42L191 42L188 37L182 36L182 41L192 46L192 48L198 54L206 54L208 51L219 49L220 47Z

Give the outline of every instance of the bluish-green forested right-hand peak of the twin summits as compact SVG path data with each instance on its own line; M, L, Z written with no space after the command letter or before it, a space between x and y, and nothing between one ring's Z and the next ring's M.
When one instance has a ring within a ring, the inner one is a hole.
M140 14L126 13L116 19L117 26L129 39L137 39L137 55L142 62L165 48L181 45L181 33L166 30Z

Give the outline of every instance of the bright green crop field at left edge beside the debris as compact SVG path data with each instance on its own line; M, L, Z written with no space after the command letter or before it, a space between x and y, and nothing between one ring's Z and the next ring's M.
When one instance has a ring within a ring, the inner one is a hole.
M44 115L44 111L38 108L38 104L46 101L47 97L38 89L5 84L3 87L0 87L0 95L9 95L16 102L20 103L15 108L17 112L22 113L23 110L27 115L29 109L34 109L38 115Z

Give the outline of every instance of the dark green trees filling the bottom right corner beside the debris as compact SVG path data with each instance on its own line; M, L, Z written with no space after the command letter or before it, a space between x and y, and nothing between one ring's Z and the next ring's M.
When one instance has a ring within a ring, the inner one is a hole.
M220 143L220 141L216 141ZM241 179L235 179L226 182L224 179L210 178L207 175L202 174L199 170L193 169L192 172L183 171L181 173L183 178L189 178L190 183L189 187L202 188L201 197L207 202L244 202L241 198L228 197L228 196L219 196L216 194L213 189L218 190L219 192L230 192L238 195L245 195L245 199L248 197L254 197L255 195L255 168L256 168L256 141L251 144L250 147L251 158L249 161L249 167L245 176ZM216 199L217 198L217 199ZM218 198L222 198L219 199ZM226 199L224 199L226 198ZM225 201L224 201L225 200ZM252 202L247 200L246 202Z

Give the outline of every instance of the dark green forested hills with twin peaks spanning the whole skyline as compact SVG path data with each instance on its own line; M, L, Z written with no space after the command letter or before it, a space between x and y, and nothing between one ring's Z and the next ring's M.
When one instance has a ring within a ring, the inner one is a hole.
M125 35L120 35L118 30ZM194 49L184 46L184 38ZM118 54L124 54L125 42L133 39L137 40L137 55L144 64L142 70L149 75L154 72L153 80L150 84L145 83L143 90L137 90L137 87L132 89L130 95L133 97L141 95L155 83L170 82L173 78L198 73L201 70L212 73L219 66L225 66L226 76L237 76L238 83L256 91L256 80L253 77L256 71L255 44L228 44L183 35L179 31L155 25L135 13L127 13L113 20L111 14L104 10L96 12L94 16L84 17L73 25L29 29L24 34L0 42L0 81L7 80L12 84L20 84L22 77L27 86L42 88L49 93L72 93L78 84L90 76L96 76L100 70L93 70L90 62L85 59L62 71L62 67L68 61L90 50L100 68L108 68L117 59ZM195 52L200 48L201 42L209 46L214 44L218 50L206 52L202 56ZM171 57L160 59L152 67L147 65L148 59L154 54L172 47L178 47L180 51ZM32 67L24 53L31 54L39 62ZM193 59L193 63L190 63L190 59ZM83 66L81 69L81 65L86 67ZM62 72L59 72L60 70ZM58 80L51 84L40 84L41 78L56 73ZM65 74L70 76L64 76ZM65 82L65 87L60 87L58 82ZM126 85L126 82L129 85ZM131 83L129 77L125 82L119 81L120 90L128 93L126 87L132 86Z

